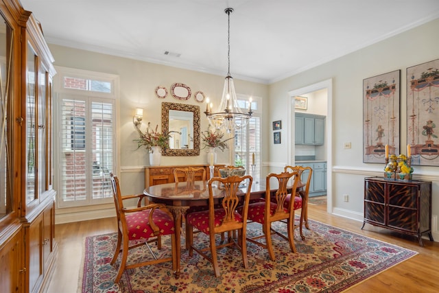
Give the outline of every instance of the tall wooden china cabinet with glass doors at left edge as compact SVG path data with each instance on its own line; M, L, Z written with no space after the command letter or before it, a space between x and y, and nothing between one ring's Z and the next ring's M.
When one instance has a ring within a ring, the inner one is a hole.
M0 0L0 292L44 292L55 268L52 78L40 23Z

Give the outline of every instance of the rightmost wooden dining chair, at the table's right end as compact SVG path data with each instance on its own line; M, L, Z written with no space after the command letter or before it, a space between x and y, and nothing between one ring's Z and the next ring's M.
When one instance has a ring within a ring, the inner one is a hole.
M298 176L300 178L300 183L302 183L303 177L307 176L306 184L296 192L296 196L294 196L294 209L300 209L300 222L298 226L295 228L299 228L300 237L305 240L305 236L302 233L303 224L305 227L309 229L308 224L308 197L309 197L309 185L311 184L311 176L313 174L313 169L311 167L302 167L302 166L285 166L285 172L298 172ZM285 200L285 204L289 204L289 200L291 200L291 195L288 196L287 200Z

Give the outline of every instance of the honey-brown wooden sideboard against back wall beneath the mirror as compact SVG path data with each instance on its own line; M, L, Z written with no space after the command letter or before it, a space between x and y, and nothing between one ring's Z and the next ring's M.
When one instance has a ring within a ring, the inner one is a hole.
M181 167L204 167L206 170L206 180L209 180L211 169L209 165L180 165L180 166L149 166L145 167L145 188L152 185L173 183L174 180L174 169ZM215 176L219 176L218 169L225 167L225 165L215 165L213 172ZM201 180L202 174L195 176L195 180Z

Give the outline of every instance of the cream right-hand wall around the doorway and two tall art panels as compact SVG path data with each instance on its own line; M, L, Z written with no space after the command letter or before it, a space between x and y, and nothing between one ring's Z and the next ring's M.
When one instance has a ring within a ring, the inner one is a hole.
M401 145L406 145L406 69L439 58L439 19L421 25L392 38L370 45L352 54L337 58L319 67L298 73L270 84L269 119L287 119L289 91L323 80L333 80L332 138L333 188L328 191L333 201L333 212L361 218L363 215L364 177L381 176L384 165L363 163L363 80L401 69ZM324 49L324 47L322 47ZM352 148L343 148L344 142ZM270 149L273 164L283 162L287 145ZM433 181L433 215L439 215L438 167L414 166L415 178ZM343 194L350 196L343 202ZM437 219L436 219L437 221ZM438 226L438 223L436 223ZM436 231L438 233L438 231ZM437 235L437 234L436 234ZM439 239L439 235L436 236Z

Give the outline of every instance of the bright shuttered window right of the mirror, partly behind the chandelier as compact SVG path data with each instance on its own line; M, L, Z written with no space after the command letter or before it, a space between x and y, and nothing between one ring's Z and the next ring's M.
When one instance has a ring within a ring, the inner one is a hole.
M247 96L238 95L237 99L243 110L248 109ZM261 176L261 98L252 97L252 110L254 113L247 126L241 130L235 130L233 158L236 166L246 167L248 174L259 178Z

